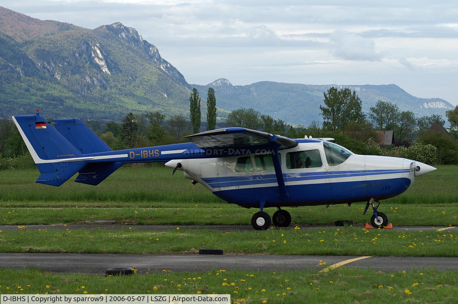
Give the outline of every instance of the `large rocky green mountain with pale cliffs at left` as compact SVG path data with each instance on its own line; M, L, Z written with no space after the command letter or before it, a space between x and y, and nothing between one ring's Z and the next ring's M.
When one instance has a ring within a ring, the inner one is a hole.
M0 45L0 117L37 108L98 119L189 111L183 75L120 22L90 30L0 7Z

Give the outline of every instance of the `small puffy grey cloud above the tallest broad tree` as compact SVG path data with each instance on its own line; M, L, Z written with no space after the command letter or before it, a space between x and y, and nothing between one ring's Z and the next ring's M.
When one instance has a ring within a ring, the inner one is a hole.
M380 61L384 53L376 52L372 39L361 37L356 33L335 30L329 36L331 53L341 59Z

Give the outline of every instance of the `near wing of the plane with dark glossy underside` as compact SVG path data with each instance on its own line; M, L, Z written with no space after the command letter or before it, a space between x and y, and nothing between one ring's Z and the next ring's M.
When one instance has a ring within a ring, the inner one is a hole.
M186 137L204 150L239 149L252 151L278 146L278 149L287 149L293 148L298 144L294 139L246 128L217 129Z

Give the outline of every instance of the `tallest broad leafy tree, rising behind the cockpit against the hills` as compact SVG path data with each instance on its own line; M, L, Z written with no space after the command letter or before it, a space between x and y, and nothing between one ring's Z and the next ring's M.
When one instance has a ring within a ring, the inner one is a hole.
M320 106L323 128L335 132L342 130L349 121L361 123L365 115L361 109L361 99L349 88L337 90L332 86L323 93L324 107Z

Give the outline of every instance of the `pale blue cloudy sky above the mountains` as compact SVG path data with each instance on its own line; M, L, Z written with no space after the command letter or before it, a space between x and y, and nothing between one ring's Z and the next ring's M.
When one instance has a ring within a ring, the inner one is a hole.
M188 83L396 84L458 103L458 1L1 0L39 19L134 27Z

